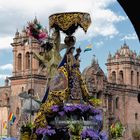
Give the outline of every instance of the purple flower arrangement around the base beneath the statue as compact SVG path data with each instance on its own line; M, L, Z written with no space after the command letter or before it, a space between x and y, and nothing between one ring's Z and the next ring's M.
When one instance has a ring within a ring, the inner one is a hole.
M60 120L80 120L95 122L94 129L87 128L83 129L81 133L82 139L89 138L90 140L107 140L107 135L102 130L102 111L100 109L95 109L91 105L87 104L67 104L65 106L54 105L52 106L52 116L50 116L50 121L48 121L48 126L46 128L38 128L36 130L37 135L46 135L47 137L57 137L60 134L66 133L66 128L56 129L54 124L51 124L55 118ZM77 117L75 117L77 116ZM69 128L67 128L69 130ZM68 132L67 132L68 133Z

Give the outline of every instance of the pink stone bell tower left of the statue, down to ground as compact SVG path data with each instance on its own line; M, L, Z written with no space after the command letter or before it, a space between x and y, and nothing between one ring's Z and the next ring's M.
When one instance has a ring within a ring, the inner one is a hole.
M35 18L35 20L37 19ZM42 99L46 89L47 76L44 72L38 73L39 62L33 57L33 52L40 53L41 48L35 39L28 36L25 27L21 32L17 30L11 45L13 47L13 76L10 78L12 92L10 110L15 114L16 122L10 127L10 133L12 136L16 136L22 108L19 93L34 89L34 94Z

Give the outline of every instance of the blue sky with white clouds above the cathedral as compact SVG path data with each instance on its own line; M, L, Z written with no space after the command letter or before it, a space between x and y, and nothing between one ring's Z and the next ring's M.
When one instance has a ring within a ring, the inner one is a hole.
M92 24L85 34L82 29L75 33L76 46L82 49L92 44L91 52L82 53L81 70L89 66L96 55L106 73L108 53L114 54L124 40L130 49L139 53L140 44L130 20L116 0L0 0L0 85L12 74L12 47L10 43L16 30L20 32L36 16L44 27L48 17L57 12L88 12Z

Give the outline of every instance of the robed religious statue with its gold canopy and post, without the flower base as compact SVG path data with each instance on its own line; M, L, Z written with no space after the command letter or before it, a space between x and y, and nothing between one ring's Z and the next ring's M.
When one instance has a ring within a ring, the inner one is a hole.
M52 48L46 51L43 57L36 54L35 56L43 63L44 67L47 67L51 79L45 93L47 98L41 104L35 118L32 136L35 135L38 128L48 127L49 118L53 116L53 106L64 106L68 102L79 103L81 100L87 102L89 97L79 70L81 49L76 49L76 55L73 54L75 37L72 36L79 25L85 32L87 31L91 22L89 14L80 12L60 13L51 15L49 18L50 28L54 29ZM64 18L64 20L61 18ZM67 34L64 40L65 45L62 46L60 43L60 30ZM60 62L60 51L65 47L67 50ZM54 72L55 70L56 72Z

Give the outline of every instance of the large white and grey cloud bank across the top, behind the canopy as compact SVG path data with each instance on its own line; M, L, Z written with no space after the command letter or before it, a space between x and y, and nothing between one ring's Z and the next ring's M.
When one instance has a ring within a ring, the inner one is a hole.
M41 23L48 26L48 17L57 12L81 11L91 15L92 24L87 32L88 37L116 35L119 31L115 24L126 20L108 7L118 4L116 0L18 0L0 1L0 35L14 35L17 28L26 26L36 15ZM82 33L82 34L81 34ZM76 33L78 39L84 35L83 31Z

